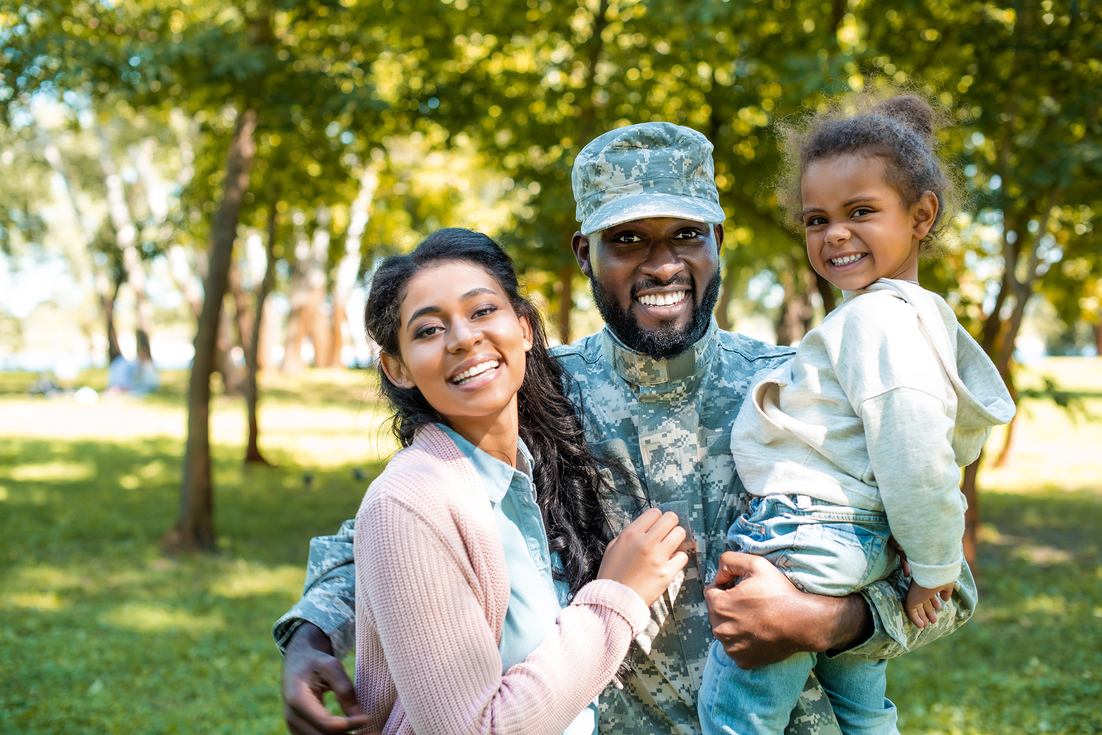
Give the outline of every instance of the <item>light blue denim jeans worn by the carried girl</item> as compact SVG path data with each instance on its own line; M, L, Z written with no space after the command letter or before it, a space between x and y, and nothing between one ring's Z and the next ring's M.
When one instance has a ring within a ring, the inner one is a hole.
M883 512L807 496L755 498L727 533L727 544L765 556L804 592L843 596L882 580L898 558ZM812 670L844 735L892 734L896 709L885 699L886 661L797 653L743 671L719 641L709 650L696 709L704 735L780 735Z

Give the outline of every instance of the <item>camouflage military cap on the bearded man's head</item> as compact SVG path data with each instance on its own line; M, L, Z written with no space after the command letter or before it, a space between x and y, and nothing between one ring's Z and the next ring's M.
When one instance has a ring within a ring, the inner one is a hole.
M712 143L692 128L644 122L582 149L571 173L576 217L588 235L644 217L722 223Z

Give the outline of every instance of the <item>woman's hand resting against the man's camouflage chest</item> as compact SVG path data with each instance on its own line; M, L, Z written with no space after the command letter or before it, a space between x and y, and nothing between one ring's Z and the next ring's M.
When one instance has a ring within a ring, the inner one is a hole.
M650 508L612 540L597 579L631 587L649 606L689 563L685 552L678 551L684 540L677 514Z

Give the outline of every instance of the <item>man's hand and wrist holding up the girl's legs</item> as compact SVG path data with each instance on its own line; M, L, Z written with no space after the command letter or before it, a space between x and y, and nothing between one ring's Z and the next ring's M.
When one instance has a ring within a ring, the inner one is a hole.
M742 581L724 590L732 582ZM800 651L845 650L868 638L873 617L861 595L824 597L797 590L761 556L728 551L704 590L712 633L739 669Z

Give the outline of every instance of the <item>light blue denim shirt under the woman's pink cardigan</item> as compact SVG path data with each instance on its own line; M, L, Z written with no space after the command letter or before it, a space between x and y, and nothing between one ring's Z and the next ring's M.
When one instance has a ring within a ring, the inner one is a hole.
M532 485L532 455L522 439L517 439L517 466L510 467L483 452L444 424L439 425L460 452L471 461L483 482L509 571L509 607L501 627L501 673L520 663L543 642L554 628L565 603L569 586L552 579L558 553L548 551L543 515L536 502ZM596 733L595 703L583 710L563 735Z

